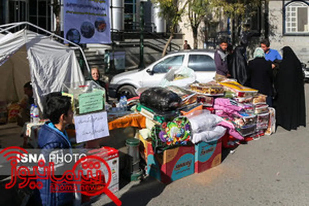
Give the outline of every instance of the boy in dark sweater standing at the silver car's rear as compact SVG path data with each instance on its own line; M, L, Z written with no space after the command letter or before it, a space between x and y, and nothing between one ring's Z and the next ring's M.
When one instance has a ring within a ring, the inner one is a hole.
M215 80L220 82L222 79L229 77L229 69L227 63L227 40L222 38L219 40L219 48L214 53L214 63L216 65Z

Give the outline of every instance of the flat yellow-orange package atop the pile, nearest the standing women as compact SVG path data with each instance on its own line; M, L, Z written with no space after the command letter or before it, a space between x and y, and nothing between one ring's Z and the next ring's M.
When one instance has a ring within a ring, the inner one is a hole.
M258 93L258 90L243 86L237 82L220 82L219 84L234 92L236 97L253 97Z

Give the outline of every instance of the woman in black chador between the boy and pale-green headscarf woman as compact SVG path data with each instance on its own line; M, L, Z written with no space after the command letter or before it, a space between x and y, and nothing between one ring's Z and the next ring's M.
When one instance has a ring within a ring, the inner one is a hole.
M237 46L233 51L230 65L231 78L236 79L241 85L245 85L248 80L245 52L243 46Z

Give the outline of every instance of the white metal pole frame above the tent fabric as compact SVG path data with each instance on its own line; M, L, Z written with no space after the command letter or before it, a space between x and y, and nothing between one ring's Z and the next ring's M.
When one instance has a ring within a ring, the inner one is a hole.
M65 38L63 38L61 36L58 36L57 34L54 34L53 32L49 32L48 30L45 30L45 29L43 29L41 27L38 27L38 26L36 26L36 25L34 25L34 24L30 23L30 22L18 22L18 23L2 24L2 25L0 25L0 29L1 29L0 32L8 32L8 33L10 33L8 30L10 30L12 28L15 28L15 27L19 27L19 26L24 25L24 24L27 25L27 26L35 27L37 30L41 30L43 32L46 32L46 33L50 34L52 37L55 36L55 37L57 37L57 38L59 38L59 39L61 39L63 41L66 41L66 42L74 45L75 47L77 47L79 49L79 51L82 53L82 56L84 58L87 70L90 73L90 68L89 68L89 65L88 65L88 62L87 62L87 59L86 59L86 56L85 56L85 53L84 53L83 49L78 44L75 44L74 42L72 42L70 40L67 40L67 39L65 39ZM7 28L3 28L2 29L2 27L7 27Z

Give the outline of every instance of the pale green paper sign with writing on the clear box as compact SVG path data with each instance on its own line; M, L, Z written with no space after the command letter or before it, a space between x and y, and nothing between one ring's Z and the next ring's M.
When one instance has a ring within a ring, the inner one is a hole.
M104 90L97 90L78 95L79 114L102 110L104 106L103 95Z

